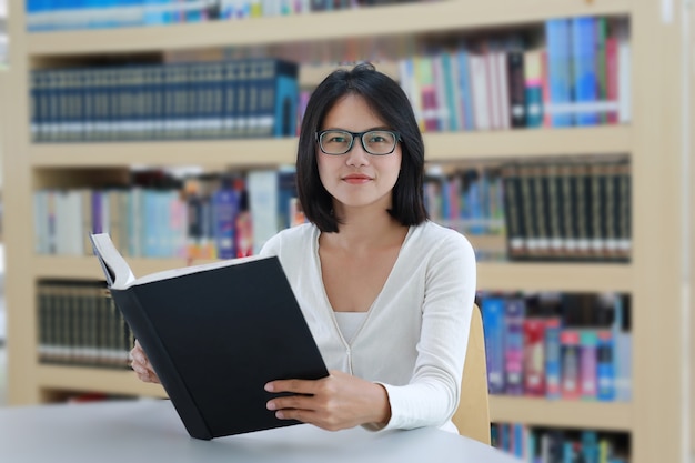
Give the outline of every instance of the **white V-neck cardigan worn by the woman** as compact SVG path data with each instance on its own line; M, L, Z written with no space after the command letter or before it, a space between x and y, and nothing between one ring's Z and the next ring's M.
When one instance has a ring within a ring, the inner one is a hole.
M385 429L451 422L461 389L475 295L475 255L460 233L425 222L411 227L381 293L352 342L329 302L313 224L271 238L262 255L278 255L329 370L383 384L391 420Z

